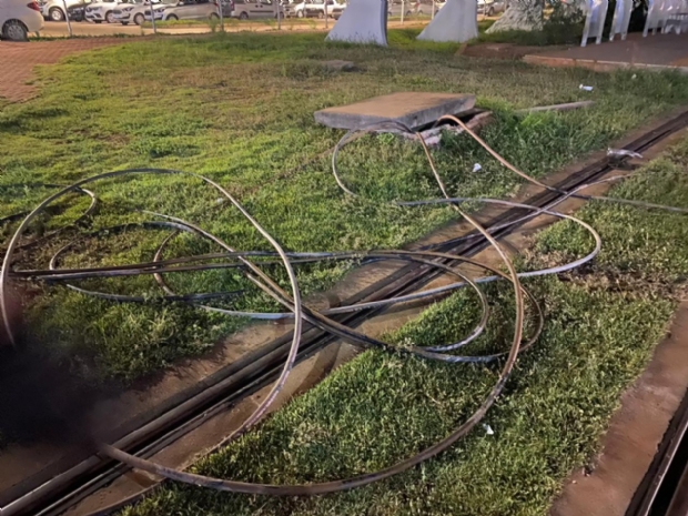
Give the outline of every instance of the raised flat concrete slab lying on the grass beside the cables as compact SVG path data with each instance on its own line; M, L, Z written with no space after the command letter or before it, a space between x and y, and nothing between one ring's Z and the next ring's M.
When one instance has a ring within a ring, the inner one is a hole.
M443 114L459 114L474 105L475 95L472 94L406 91L316 111L315 121L334 129L357 129L384 120L396 120L417 129L433 123Z

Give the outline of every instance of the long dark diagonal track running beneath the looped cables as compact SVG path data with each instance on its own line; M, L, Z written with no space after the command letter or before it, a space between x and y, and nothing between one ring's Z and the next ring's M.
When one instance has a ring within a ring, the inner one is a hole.
M643 134L625 146L634 152L646 152L675 132L688 125L688 112L682 113L665 124ZM553 185L557 191L544 191L533 195L527 204L535 208L546 208L560 200L560 192L573 191L576 188L601 179L609 172L617 170L618 163L604 158L574 173L561 182ZM504 225L523 219L523 209L509 209L499 216L485 222L486 227ZM525 221L494 231L495 237L504 237L518 229ZM423 247L423 250L472 256L484 249L487 242L482 236L466 240L454 239ZM448 261L444 261L448 263ZM418 291L435 280L443 272L423 264L409 264L382 281L364 289L342 304L380 301L392 296ZM387 308L362 310L358 312L335 315L332 318L350 327L357 327L364 321L380 315ZM337 337L313 325L305 325L297 355L302 362ZM223 374L214 378L206 389L189 397L176 407L165 412L142 427L129 433L113 445L120 449L141 457L150 457L169 446L181 436L203 424L204 421L226 411L245 396L270 384L284 363L290 350L292 335L290 333L251 352L223 370ZM688 406L688 402L686 402ZM686 409L686 426L688 427L688 408ZM685 429L684 429L685 431ZM105 457L93 455L67 468L47 469L41 475L26 479L13 488L0 494L0 515L17 516L34 514L52 516L63 513L74 504L88 497L99 488L110 484L128 471L128 466L115 463ZM688 476L688 475L684 475ZM688 478L686 479L688 483ZM112 509L110 507L109 509ZM107 510L103 513L105 514ZM640 514L640 513L638 513ZM649 513L647 513L649 514ZM630 516L630 515L629 515Z

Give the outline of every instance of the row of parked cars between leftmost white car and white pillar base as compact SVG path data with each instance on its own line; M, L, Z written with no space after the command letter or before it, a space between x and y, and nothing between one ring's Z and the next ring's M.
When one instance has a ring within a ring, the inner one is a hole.
M206 20L220 18L340 18L345 3L337 0L39 0L47 20L141 24L155 20ZM67 12L64 9L67 6Z

